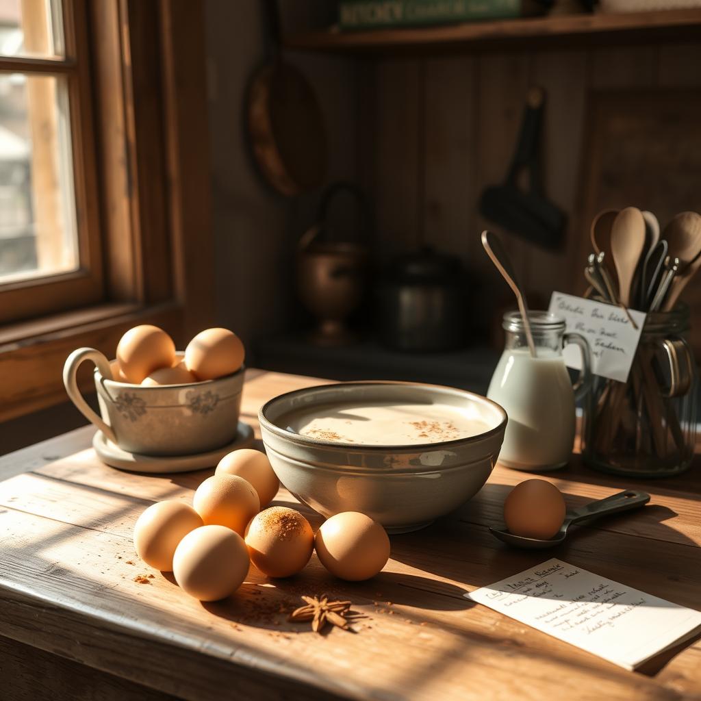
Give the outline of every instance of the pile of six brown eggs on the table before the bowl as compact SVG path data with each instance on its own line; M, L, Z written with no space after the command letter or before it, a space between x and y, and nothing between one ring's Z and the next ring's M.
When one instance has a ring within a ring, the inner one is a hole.
M233 451L198 486L191 506L162 501L139 516L137 554L151 567L172 571L178 585L200 601L233 594L250 563L268 577L297 574L313 550L341 579L365 580L383 569L390 541L380 524L365 514L343 512L327 519L315 536L299 511L284 506L261 511L279 486L264 453Z

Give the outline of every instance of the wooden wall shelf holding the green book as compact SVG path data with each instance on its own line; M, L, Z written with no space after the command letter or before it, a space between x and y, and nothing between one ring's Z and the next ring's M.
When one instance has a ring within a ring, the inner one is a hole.
M701 9L583 14L472 22L442 27L292 34L285 47L326 53L444 53L489 48L586 43L701 40ZM535 43L537 41L537 44Z

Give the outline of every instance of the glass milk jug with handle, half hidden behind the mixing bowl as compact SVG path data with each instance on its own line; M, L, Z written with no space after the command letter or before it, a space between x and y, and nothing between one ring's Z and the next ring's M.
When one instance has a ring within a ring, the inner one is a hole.
M518 470L556 470L569 462L574 444L575 400L590 386L590 355L579 334L565 334L565 322L545 311L529 312L536 357L526 341L521 315L504 315L506 343L487 397L506 410L509 422L499 462ZM566 343L582 353L575 386L562 357Z

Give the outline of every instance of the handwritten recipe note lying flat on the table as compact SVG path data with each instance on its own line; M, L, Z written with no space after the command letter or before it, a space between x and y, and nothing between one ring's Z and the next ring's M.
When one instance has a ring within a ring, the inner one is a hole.
M555 558L465 597L626 669L701 631L699 611Z

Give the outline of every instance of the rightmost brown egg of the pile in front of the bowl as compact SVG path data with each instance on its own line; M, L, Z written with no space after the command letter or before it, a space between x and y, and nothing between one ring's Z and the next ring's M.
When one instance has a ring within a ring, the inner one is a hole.
M385 529L358 511L344 511L322 523L315 547L321 564L350 582L374 577L390 557Z

